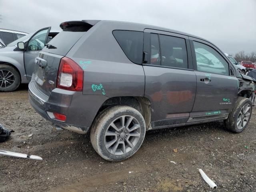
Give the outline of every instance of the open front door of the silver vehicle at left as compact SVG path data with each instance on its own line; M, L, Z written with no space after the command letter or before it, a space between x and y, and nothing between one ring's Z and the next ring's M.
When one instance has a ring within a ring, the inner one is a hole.
M26 42L26 49L24 51L24 65L28 82L30 82L32 73L34 72L35 58L38 52L44 48L50 29L51 27L46 27L38 30L28 40L28 42Z

